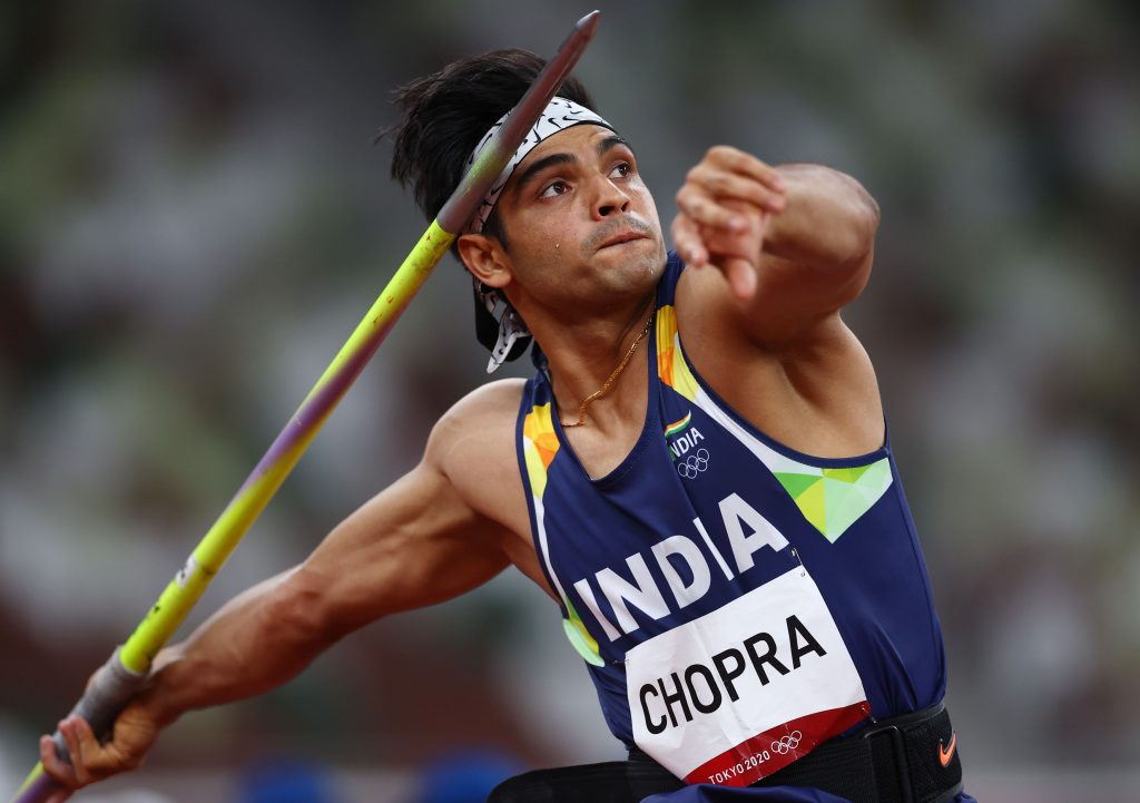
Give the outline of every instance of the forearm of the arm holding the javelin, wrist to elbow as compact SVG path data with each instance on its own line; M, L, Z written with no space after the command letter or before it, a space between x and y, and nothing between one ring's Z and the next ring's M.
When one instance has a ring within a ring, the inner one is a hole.
M235 597L185 641L162 650L138 697L165 727L181 714L274 689L334 639L308 613L296 570Z

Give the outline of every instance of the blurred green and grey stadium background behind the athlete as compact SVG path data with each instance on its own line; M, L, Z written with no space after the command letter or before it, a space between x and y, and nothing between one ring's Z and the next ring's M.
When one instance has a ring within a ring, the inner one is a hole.
M598 5L578 75L663 219L717 143L834 165L881 204L848 318L934 578L967 788L1140 798L1140 6ZM591 8L0 7L0 795L423 230L372 144L389 91L462 55L548 55ZM193 622L415 463L483 380L470 307L449 259ZM300 761L319 800L413 801L472 748L619 754L518 576L187 716L83 800L253 800L255 768Z

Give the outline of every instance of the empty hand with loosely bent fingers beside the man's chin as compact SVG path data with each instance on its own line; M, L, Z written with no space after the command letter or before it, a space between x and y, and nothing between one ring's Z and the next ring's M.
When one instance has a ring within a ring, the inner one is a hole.
M775 168L726 145L710 148L677 192L673 240L682 259L711 265L736 298L751 298L765 224L783 211L783 193Z

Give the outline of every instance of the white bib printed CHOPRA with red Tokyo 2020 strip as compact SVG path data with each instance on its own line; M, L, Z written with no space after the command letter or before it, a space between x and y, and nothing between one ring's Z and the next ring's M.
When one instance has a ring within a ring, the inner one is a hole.
M748 786L871 712L807 571L626 654L634 741L689 784Z

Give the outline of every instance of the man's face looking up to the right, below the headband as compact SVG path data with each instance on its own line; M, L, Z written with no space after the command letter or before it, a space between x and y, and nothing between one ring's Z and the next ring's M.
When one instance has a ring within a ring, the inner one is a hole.
M516 307L627 303L643 298L665 266L661 224L637 160L598 125L543 141L515 169L496 211L510 243L504 289Z

